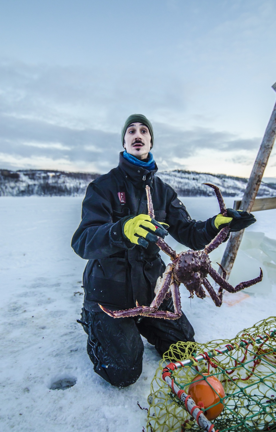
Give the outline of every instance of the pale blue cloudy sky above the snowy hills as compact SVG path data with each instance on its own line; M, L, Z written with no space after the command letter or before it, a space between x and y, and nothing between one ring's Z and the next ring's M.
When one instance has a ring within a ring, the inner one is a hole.
M275 0L0 0L0 168L108 172L141 113L159 169L249 176L275 22Z

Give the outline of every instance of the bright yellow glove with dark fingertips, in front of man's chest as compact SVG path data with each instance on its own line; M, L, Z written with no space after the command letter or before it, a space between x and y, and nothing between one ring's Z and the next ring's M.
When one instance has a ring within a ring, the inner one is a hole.
M157 222L149 215L140 214L124 222L123 233L131 243L147 248L149 241L156 243L158 237L164 238L168 235L168 227L167 223Z

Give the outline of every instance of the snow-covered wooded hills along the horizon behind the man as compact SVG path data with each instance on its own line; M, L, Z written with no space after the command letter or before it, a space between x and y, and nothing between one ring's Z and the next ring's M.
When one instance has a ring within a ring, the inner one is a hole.
M99 174L61 172L47 170L0 170L0 196L84 196L87 185ZM158 172L158 177L170 184L183 197L214 195L202 183L213 183L220 187L224 197L241 197L248 179L223 174L214 175L183 170ZM275 197L276 184L262 183L258 197Z

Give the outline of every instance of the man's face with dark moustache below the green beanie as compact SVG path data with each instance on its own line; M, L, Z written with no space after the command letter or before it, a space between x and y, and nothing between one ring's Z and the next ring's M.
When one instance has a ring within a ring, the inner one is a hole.
M151 149L149 129L142 123L132 123L124 135L124 148L137 159L146 159Z

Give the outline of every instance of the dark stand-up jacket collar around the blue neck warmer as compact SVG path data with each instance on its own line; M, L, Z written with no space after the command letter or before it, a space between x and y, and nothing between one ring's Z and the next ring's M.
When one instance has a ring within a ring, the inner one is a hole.
M126 159L124 159L123 153L124 152L120 152L118 167L123 172L124 177L126 179L128 178L130 181L132 181L132 183L136 184L137 186L142 186L144 184L152 184L153 177L158 170L156 163L155 169L152 171L148 171L145 168L133 165L132 163L128 162Z

